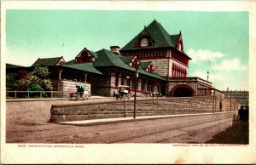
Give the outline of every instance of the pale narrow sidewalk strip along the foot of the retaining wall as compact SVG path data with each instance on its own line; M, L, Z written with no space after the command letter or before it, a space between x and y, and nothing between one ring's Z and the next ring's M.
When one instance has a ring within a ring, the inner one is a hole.
M147 116L147 117L119 117L119 118L102 118L102 119L91 119L83 121L68 121L68 122L55 122L63 125L74 125L74 126L90 126L90 125L99 125L99 124L108 124L108 123L118 123L118 122L137 122L143 120L154 120L160 118L172 118L172 117L192 117L192 116L203 116L203 115L214 115L220 113L230 113L226 112L215 112L215 113L194 113L194 114L179 114L179 115L161 115L161 116Z

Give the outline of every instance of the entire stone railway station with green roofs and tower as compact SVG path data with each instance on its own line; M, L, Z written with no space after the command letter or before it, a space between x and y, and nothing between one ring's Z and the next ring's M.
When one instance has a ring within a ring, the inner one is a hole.
M65 96L78 83L90 88L91 94L102 96L112 96L119 85L130 86L131 94L137 90L138 95L212 94L212 83L199 77L188 77L189 60L192 59L184 52L182 32L170 35L154 20L123 48L114 45L109 50L96 52L83 48L70 61L64 57L38 58L31 67L6 65L6 70L32 71L34 67L47 66L53 90L62 91Z

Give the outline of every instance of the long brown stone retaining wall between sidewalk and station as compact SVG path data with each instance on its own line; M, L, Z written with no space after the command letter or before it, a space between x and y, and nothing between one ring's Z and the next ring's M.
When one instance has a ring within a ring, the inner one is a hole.
M230 111L229 100L222 99L222 102L221 111ZM137 117L220 112L219 106L217 105L219 105L219 100L216 100L214 105L212 97L137 100ZM75 105L52 105L50 121L63 122L99 118L132 117L133 108L133 100L105 101L101 103L81 102ZM232 111L235 111L233 108L232 106Z

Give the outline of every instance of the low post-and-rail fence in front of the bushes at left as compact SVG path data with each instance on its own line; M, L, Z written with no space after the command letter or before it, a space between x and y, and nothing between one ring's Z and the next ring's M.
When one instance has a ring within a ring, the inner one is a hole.
M63 98L62 91L6 91L6 99Z

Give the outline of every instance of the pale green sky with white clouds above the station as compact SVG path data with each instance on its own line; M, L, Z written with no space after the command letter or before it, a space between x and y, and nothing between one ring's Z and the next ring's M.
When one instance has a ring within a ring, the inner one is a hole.
M132 10L6 11L6 63L31 66L38 58L73 60L83 49L98 51L126 43L154 19L171 34L182 31L189 77L219 90L248 90L247 12Z

